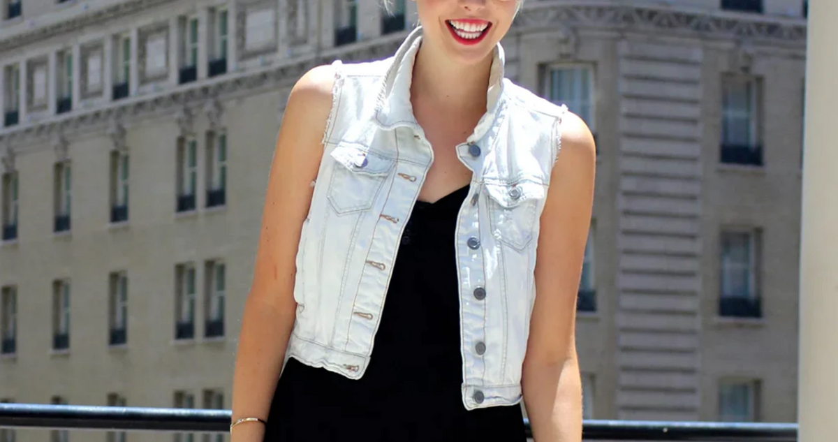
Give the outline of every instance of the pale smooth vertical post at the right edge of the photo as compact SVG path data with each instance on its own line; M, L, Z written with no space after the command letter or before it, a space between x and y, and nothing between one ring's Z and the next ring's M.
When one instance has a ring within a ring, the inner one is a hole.
M812 8L806 55L798 422L800 442L826 442L838 434L838 3L821 0Z

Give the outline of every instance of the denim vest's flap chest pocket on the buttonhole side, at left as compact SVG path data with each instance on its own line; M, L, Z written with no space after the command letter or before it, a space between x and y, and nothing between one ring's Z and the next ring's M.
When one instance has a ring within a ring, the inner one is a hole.
M335 213L363 212L372 208L395 160L375 152L364 152L358 146L339 145L331 157L333 167L328 186L328 202Z

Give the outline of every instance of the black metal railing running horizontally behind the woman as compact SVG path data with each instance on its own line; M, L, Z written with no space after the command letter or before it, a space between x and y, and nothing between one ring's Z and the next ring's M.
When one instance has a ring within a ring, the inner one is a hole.
M231 416L227 409L0 403L0 427L10 428L227 433ZM529 420L524 424L527 437L532 437ZM797 434L797 424L727 422L585 420L582 429L586 440L797 442Z

